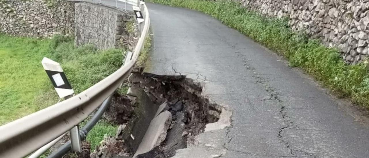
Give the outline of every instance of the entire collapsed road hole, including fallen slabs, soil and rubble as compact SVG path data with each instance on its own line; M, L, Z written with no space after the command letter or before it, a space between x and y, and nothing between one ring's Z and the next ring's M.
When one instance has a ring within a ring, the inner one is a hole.
M115 96L113 108L118 110L109 115L124 125L94 157L172 157L203 133L206 124L219 120L221 106L201 96L202 86L185 76L135 72L129 81L127 97L119 101Z

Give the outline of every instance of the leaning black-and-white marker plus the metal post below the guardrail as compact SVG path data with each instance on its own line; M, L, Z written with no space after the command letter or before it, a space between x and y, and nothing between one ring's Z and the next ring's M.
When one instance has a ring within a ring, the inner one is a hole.
M72 86L70 86L60 63L46 57L42 59L41 63L59 97L64 99L69 99L70 97L73 97L74 90L72 89ZM69 130L69 135L72 150L76 152L81 152L81 138L79 136L78 125Z

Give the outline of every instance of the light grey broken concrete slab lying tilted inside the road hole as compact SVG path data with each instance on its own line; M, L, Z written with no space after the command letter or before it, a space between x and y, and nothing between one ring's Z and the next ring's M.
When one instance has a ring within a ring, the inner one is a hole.
M160 145L160 143L165 140L166 131L168 130L171 122L172 114L170 114L169 111L164 111L152 119L150 126L133 157L137 157L139 154L144 154Z

